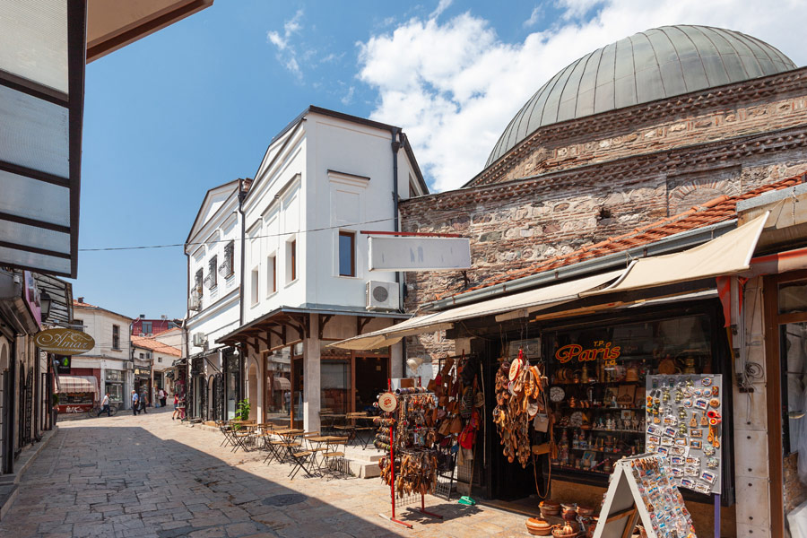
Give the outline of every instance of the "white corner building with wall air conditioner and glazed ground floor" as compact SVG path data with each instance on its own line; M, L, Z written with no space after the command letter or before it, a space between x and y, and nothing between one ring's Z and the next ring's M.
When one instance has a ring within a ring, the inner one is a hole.
M360 410L403 377L401 343L327 344L408 317L403 278L369 273L361 231L398 230L398 202L427 193L399 127L309 107L273 138L242 204L242 324L217 339L247 356L254 418L319 430L320 413Z

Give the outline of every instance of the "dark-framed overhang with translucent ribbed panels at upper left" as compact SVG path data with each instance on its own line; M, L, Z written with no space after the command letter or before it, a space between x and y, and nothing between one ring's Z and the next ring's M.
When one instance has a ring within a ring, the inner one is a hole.
M0 265L75 277L86 4L27 0L0 18Z

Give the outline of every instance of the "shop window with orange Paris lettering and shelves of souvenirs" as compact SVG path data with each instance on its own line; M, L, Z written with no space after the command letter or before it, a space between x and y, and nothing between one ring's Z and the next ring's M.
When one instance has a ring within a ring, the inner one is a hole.
M612 472L645 451L645 379L712 371L707 315L577 327L543 334L556 469Z

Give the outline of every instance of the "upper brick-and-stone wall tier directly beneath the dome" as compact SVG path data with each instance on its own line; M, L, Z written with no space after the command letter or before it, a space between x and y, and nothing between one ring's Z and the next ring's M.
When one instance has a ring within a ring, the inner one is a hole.
M803 125L807 68L544 126L469 186Z

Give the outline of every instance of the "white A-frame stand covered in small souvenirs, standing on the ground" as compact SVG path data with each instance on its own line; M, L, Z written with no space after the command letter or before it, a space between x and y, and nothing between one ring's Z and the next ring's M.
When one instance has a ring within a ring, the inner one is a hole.
M625 457L614 464L594 538L625 538L641 522L647 538L696 538L664 458Z

